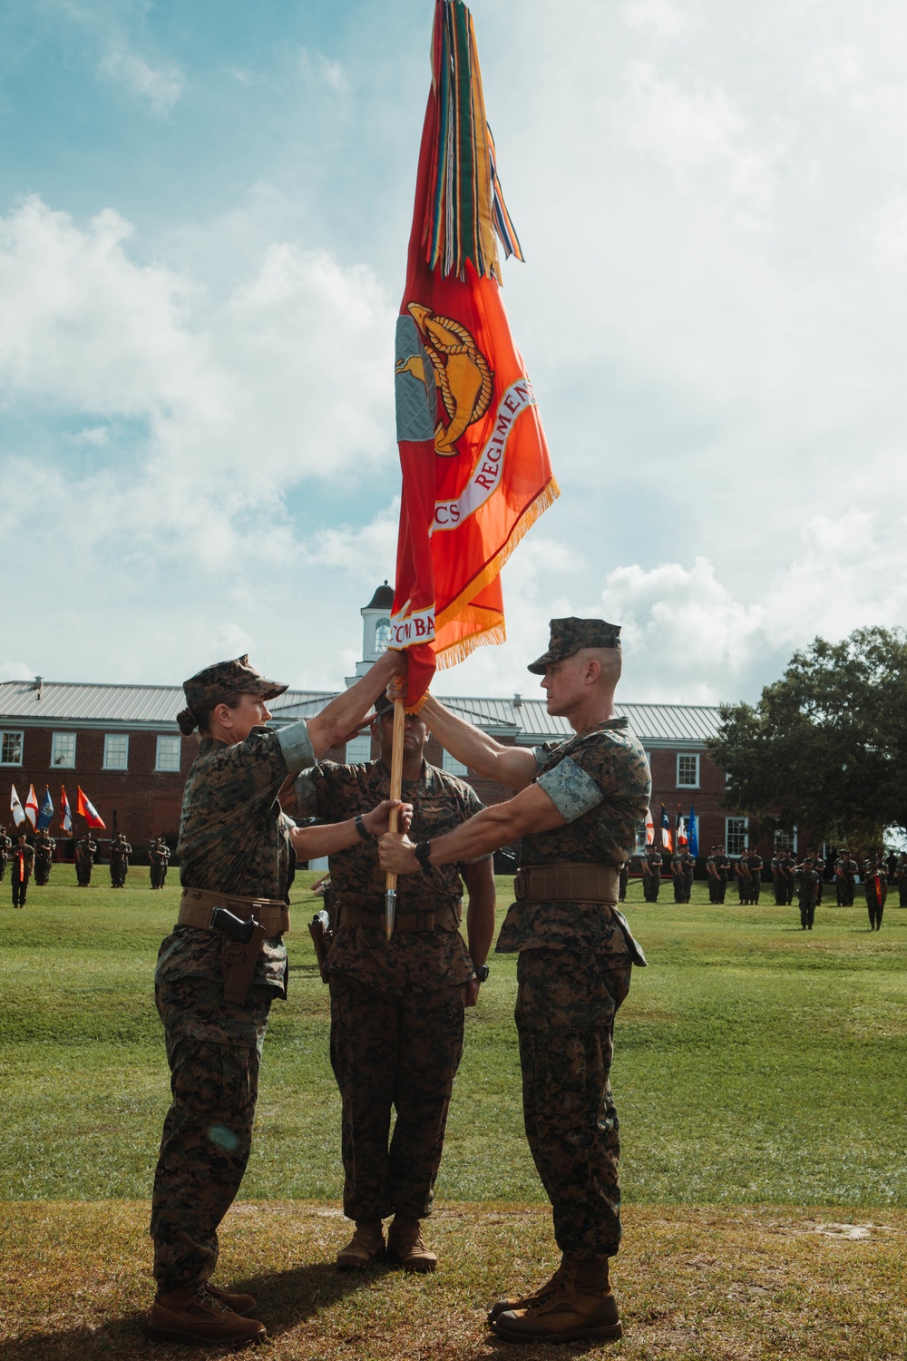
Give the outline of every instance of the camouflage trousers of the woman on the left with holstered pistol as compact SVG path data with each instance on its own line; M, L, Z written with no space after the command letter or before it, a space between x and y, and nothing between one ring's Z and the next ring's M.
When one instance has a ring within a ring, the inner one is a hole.
M218 1225L249 1161L271 998L256 987L245 1006L231 1006L223 984L207 979L156 988L173 1092L151 1200L162 1292L207 1281L218 1264Z

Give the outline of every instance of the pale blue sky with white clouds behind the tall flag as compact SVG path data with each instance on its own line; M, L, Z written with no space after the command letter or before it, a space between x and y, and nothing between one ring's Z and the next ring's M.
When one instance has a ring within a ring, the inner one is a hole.
M753 697L904 618L907 15L869 0L476 0L526 265L506 304L560 501L504 574L626 698ZM0 675L359 656L392 574L392 336L430 0L0 12Z

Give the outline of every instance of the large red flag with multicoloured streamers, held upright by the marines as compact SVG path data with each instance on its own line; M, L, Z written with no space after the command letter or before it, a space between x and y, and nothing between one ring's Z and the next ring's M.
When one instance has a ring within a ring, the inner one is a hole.
M403 501L392 646L409 649L409 709L435 666L504 641L500 569L559 494L500 299L495 233L522 260L472 16L462 0L437 0L394 367Z

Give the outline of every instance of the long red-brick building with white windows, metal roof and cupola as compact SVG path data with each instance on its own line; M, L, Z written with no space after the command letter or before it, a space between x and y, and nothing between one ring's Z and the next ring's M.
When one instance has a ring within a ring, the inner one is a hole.
M360 611L363 660L356 675L388 644L392 602L393 592L385 583ZM355 679L348 676L347 683ZM442 674L441 680L446 679ZM332 693L288 690L271 706L273 723L311 717ZM548 715L541 691L538 698L481 695L450 697L445 702L503 743L538 746L560 740L571 731L566 719ZM11 821L8 814L3 815L10 807L10 787L15 785L24 804L30 785L38 803L46 785L57 810L52 833L58 834L61 785L73 814L80 785L109 833L116 813L117 829L126 833L137 857L144 856L148 841L158 834L174 847L182 788L199 742L197 735L181 736L177 727L175 716L184 704L179 686L69 685L39 676L0 683L0 821L7 825ZM723 842L730 855L740 853L748 844L747 819L721 807L725 776L704 750L707 738L717 731L718 710L668 704L620 704L617 710L627 716L649 753L655 822L662 803L672 826L677 804L685 818L692 804L700 853L707 855L713 842ZM351 742L345 751L328 753L328 759L367 761L371 755L371 739L366 735ZM464 770L435 739L428 743L427 758L468 778L485 803L509 798L503 787ZM75 822L78 834L83 825L78 818Z

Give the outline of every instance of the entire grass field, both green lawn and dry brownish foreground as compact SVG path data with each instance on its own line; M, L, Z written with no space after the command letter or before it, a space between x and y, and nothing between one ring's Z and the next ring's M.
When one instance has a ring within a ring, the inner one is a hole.
M178 887L151 893L132 871L113 893L105 870L95 878L78 890L54 867L24 912L0 887L0 1361L174 1354L147 1343L141 1320L167 1106L152 972ZM222 1277L260 1294L275 1361L513 1356L484 1309L556 1260L521 1127L515 960L492 957L468 1015L430 1229L438 1275L339 1277L339 1102L305 930L311 878L294 890L291 998L272 1011ZM627 905L650 958L613 1068L627 1337L559 1356L903 1358L907 911L889 906L870 934L863 911L823 906L804 934L795 909L704 900L696 886L689 906Z

